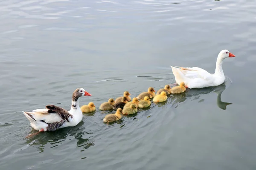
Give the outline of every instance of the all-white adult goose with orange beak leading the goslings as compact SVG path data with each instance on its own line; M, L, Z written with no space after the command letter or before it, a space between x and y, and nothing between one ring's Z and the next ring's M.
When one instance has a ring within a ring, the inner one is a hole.
M210 86L218 86L224 83L225 76L222 70L223 59L228 57L236 57L228 50L221 50L218 54L215 74L210 74L202 68L198 67L172 67L175 81L180 84L184 82L186 88L204 88Z

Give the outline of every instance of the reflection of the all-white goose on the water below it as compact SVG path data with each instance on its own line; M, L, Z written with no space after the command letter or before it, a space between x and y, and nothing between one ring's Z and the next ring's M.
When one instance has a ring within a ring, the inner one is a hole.
M200 89L187 89L186 92L182 94L173 94L171 95L171 101L174 104L179 104L181 102L184 102L187 98L199 99L200 96L204 94L209 94L211 92L215 92L217 94L217 105L219 108L226 110L227 105L232 105L233 103L228 102L222 102L221 101L221 94L226 89L226 85L218 85L216 87L209 87L209 88L200 88ZM199 102L204 101L204 99L199 100Z

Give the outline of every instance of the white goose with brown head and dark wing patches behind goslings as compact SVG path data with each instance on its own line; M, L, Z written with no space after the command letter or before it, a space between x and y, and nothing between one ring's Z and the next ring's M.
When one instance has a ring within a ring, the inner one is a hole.
M79 97L92 96L83 88L77 88L72 95L72 106L70 111L55 105L47 105L46 109L35 109L32 112L24 112L24 115L30 121L30 125L39 132L55 131L62 127L76 126L81 122L83 113L79 108ZM37 132L37 133L39 133ZM29 136L33 136L33 133Z

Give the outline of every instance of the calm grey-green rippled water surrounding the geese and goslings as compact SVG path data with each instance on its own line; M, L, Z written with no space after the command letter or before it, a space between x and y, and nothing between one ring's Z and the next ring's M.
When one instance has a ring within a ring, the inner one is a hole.
M255 170L255 9L254 0L1 0L0 169ZM213 73L222 49L236 55L224 60L225 85L102 123L108 98L174 83L170 65ZM70 109L79 87L95 113L25 139L35 130L22 111Z

